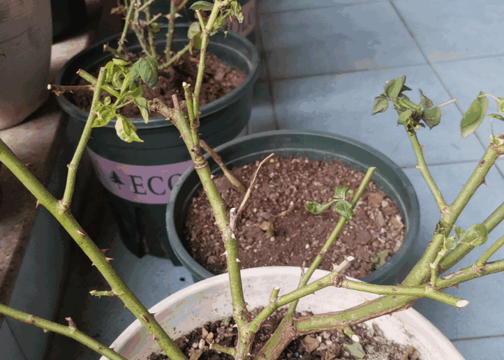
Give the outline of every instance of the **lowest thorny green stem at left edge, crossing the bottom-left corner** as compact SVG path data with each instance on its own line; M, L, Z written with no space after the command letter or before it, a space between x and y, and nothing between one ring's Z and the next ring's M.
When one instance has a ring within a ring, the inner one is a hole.
M30 315L29 313L24 313L24 311L10 308L10 306L6 306L1 303L0 313L13 317L16 320L26 322L27 324L32 324L36 327L40 327L42 329L45 329L45 331L52 331L54 333L59 333L61 335L67 336L68 338L73 338L79 343L89 347L89 349L98 352L98 354L101 354L104 357L108 357L108 359L110 360L127 360L125 357L121 357L121 355L117 354L117 352L114 352L114 350L103 345L102 343L99 343L98 341L94 340L94 338L87 336L85 333L82 333L82 331L77 330L76 327L57 324L56 322L45 320L41 317Z

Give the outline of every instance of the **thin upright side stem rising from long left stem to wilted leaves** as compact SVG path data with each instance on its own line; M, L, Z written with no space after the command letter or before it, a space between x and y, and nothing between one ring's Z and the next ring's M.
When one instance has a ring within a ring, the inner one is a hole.
M77 144L77 149L75 149L73 158L70 164L68 164L68 177L66 178L65 193L63 195L63 199L61 200L61 205L63 206L64 211L70 210L70 204L72 202L73 197L73 190L75 188L75 179L77 177L77 167L79 166L82 154L86 149L87 141L91 136L91 130L93 130L94 121L98 116L98 113L96 112L96 107L100 104L101 87L103 85L103 82L105 82L106 75L107 70L105 68L101 68L100 73L98 74L98 80L96 82L96 87L93 94L93 100L91 103L91 110L89 111L86 125L84 126L82 136L80 137L79 144Z

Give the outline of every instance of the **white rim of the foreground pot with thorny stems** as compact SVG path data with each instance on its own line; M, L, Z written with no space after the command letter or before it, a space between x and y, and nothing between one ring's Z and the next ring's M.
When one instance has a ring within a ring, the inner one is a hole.
M330 271L325 271L325 270L320 270L317 269L314 273L313 276L311 277L311 282L318 280L319 278L322 278L323 276L326 276ZM247 286L253 286L249 285L247 283L248 279L253 279L253 278L265 278L268 276L276 276L276 278L286 278L287 276L301 276L301 270L298 267L259 267L259 268L251 268L251 269L244 269L241 271L242 279L244 280L244 290L246 289ZM350 278L347 276L348 279L350 280L357 280ZM162 301L158 302L155 306L151 307L149 309L149 313L154 313L154 314L161 314L163 311L167 310L170 308L170 306L174 306L177 303L184 303L186 301L186 298L189 298L195 294L201 294L198 295L198 298L201 298L202 301L207 299L209 297L209 294L205 294L205 290L209 290L212 287L218 287L219 285L225 285L229 282L229 276L228 273L223 273L218 276L214 276L212 278L207 278L205 280L202 280L198 283L195 283L193 285L190 285L182 290L179 290L175 294L170 295L169 297L166 297ZM297 283L295 284L297 285ZM380 297L380 295L377 294L371 294L367 292L359 292L357 290L348 290L344 289L342 287L337 287L334 288L332 286L327 287L326 289L336 289L336 290L341 290L345 292L350 292L350 294L355 294L357 295L360 299L364 298L364 301L366 300L372 300ZM285 288L281 288L281 292L287 292L290 290L286 290ZM322 290L323 291L323 290ZM317 295L315 293L315 296L323 296L323 295ZM269 289L264 291L264 301L267 303L267 299L269 297ZM265 304L266 304L265 303ZM362 303L362 302L359 302ZM358 303L357 303L358 304ZM357 305L356 304L356 305ZM349 308L349 307L346 307ZM251 309L249 309L251 310ZM217 313L214 313L214 315L217 315ZM163 317L164 318L164 317ZM221 318L218 316L218 318ZM453 360L464 360L463 357L461 357L461 354L457 351L457 349L452 345L450 340L448 340L443 333L441 333L436 327L429 322L423 315L417 312L417 310L414 310L413 308L408 308L406 310L401 310L396 313L392 313L388 317L380 317L378 320L383 319L384 322L390 321L390 318L395 318L394 321L400 321L400 322L406 322L408 324L414 324L415 331L420 332L422 334L427 334L431 335L434 339L436 339L437 346L438 347L447 347L447 351L450 352L450 354L456 356L452 357L450 359ZM161 319L158 319L158 321ZM373 321L373 320L371 320ZM203 322L202 322L203 324ZM119 351L120 349L123 349L130 340L133 339L133 337L136 336L138 331L142 331L142 324L140 324L140 321L137 319L135 320L132 324L124 330L121 335L114 340L114 342L110 345L110 348L115 349L116 351ZM189 330L190 331L190 330ZM405 329L406 333L408 336L413 336L407 332ZM186 333L186 331L182 331L182 333ZM175 340L175 339L174 339ZM105 360L105 357L102 357L101 360Z

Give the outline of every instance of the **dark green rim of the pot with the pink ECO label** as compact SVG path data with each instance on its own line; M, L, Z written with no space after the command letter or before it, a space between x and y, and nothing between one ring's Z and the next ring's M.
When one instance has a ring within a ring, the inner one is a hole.
M167 29L168 24L160 24L161 29ZM175 24L176 28L188 28L189 24ZM162 31L160 31L162 33ZM133 30L128 31L128 37L130 36L135 36L135 33ZM227 49L230 52L237 53L238 51L230 47L229 44L226 43L216 43L214 40L215 38L218 37L223 37L223 33L219 32L216 33L214 36L210 37L209 40L209 46L218 46L223 49ZM56 84L58 85L65 85L62 84L62 79L66 73L70 72L71 69L79 69L80 67L78 66L79 63L82 63L89 57L89 52L93 52L97 48L103 48L103 45L108 44L110 42L113 42L114 40L117 40L118 38L121 37L120 33L117 33L115 35L109 36L108 38L105 38L104 40L101 40L99 43L96 43L92 45L91 47L88 47L87 49L82 50L82 52L79 52L76 54L74 57L72 57L63 68L58 73ZM214 41L212 41L214 40ZM188 39L186 38L174 38L174 42L179 41L179 42L188 42ZM249 64L249 73L246 74L246 78L242 84L239 85L236 89L232 90L230 93L226 94L222 98L218 98L215 101L212 101L212 103L208 103L207 105L204 105L200 108L201 115L200 117L205 117L209 114L213 114L214 112L217 112L218 110L221 110L225 107L227 107L230 103L233 103L235 100L237 100L240 97L240 94L244 91L246 87L249 87L254 84L255 80L257 80L259 72L259 54L257 51L257 48L253 43L250 42L249 39L247 39L245 36L240 35L239 33L235 33L234 31L228 31L228 35L226 36L225 42L230 42L234 41L235 43L238 43L239 45L242 45L243 47L246 47L247 50L251 51L251 57L246 59L246 62ZM163 43L162 41L156 40L156 43ZM112 54L108 52L103 52L103 59L107 59L110 57L112 59ZM66 84L68 85L68 84ZM80 121L83 121L84 123L87 121L87 118L89 116L89 112L86 112L80 107L77 107L77 105L73 104L68 98L66 98L64 95L57 96L57 101L59 103L59 106L68 114L73 114L73 116L77 117L80 119ZM152 128L160 128L160 127L165 127L165 126L174 126L170 121L167 121L165 117L151 117L149 118L149 122L145 123L144 119L141 117L138 118L133 118L130 119L135 126L139 130L143 129L152 129ZM113 119L110 121L106 126L103 126L105 128L114 128L116 123L116 120Z

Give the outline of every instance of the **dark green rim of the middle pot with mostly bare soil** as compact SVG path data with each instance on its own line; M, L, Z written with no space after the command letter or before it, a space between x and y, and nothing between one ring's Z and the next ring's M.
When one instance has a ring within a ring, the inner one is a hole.
M355 147L360 147L361 149L364 149L364 151L367 151L368 153L380 157L380 160L382 160L388 167L394 170L395 174L399 177L401 183L403 183L404 187L406 188L405 190L406 195L409 197L413 209L412 211L413 213L406 213L408 219L403 218L403 223L406 226L408 226L406 227L407 231L405 232L404 241L401 245L401 248L399 248L399 250L397 250L396 253L392 255L390 260L388 260L379 269L369 273L366 277L362 278L362 280L364 280L367 283L373 283L373 281L375 281L376 279L382 278L383 276L385 276L385 273L387 273L388 271L390 271L390 269L393 269L401 261L403 261L403 258L406 257L408 250L413 248L415 240L417 238L417 234L420 231L420 204L418 202L417 195L413 188L413 184L410 182L408 177L406 177L406 174L404 174L401 168L398 165L396 165L392 160L390 160L390 158L385 156L385 154L380 153L380 151L373 149L372 147L369 147L369 145L363 144L362 142L359 142L357 140L353 140L350 137L311 130L272 130L272 131L266 131L264 133L256 133L253 135L239 137L235 140L232 140L230 142L221 145L220 147L216 147L216 149L214 150L218 153L219 151L227 147L233 147L241 142L255 142L255 141L260 142L264 141L265 137L281 137L291 135L296 136L301 135L307 137L319 136L321 138L323 137L326 139L342 141ZM200 278L208 278L210 276L215 275L210 271L208 271L207 269L205 269L204 267L202 267L201 264L196 262L196 260L194 260L193 257L191 257L191 255L188 254L187 250L184 248L184 245L181 243L181 239L179 239L177 232L175 231L176 226L174 221L175 219L174 214L175 214L176 199L177 196L179 195L180 187L193 171L194 166L191 166L188 168L188 170L186 170L186 172L184 172L184 174L182 174L179 181L177 181L177 183L175 184L175 187L173 188L172 193L170 195L170 202L168 202L167 206L166 222L168 230L172 229L173 231L168 231L168 239L170 241L170 246L172 246L175 254L179 257L184 266L190 267L191 271L194 270L196 273L198 273L198 276L200 276ZM173 234L173 232L175 232L175 234Z

